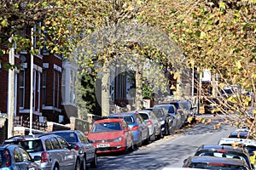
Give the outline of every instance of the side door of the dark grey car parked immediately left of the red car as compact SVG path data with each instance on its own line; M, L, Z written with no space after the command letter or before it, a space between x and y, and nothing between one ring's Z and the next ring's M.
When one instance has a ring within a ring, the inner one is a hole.
M86 152L86 159L87 161L91 161L94 159L95 155L95 146L89 142L87 137L84 135L84 133L78 131L79 133L79 140L81 141L82 147L84 148Z

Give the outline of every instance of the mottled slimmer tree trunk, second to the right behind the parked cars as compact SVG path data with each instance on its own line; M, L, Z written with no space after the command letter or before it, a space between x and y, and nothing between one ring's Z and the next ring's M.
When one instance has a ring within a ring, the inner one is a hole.
M135 109L136 111L141 111L143 109L143 65L137 65L137 71L135 74Z

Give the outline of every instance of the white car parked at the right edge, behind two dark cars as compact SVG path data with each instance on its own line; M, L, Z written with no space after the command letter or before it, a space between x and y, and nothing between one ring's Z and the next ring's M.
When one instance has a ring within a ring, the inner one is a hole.
M218 145L230 145L244 148L250 156L253 156L253 151L256 151L256 140L253 139L221 138L218 141Z

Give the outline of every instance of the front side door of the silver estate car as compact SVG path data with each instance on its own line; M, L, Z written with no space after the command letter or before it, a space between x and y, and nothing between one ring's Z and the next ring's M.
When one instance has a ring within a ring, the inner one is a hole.
M68 169L68 170L73 169L76 164L76 155L77 155L75 150L73 150L73 149L70 150L69 144L67 143L67 141L65 139L63 139L59 136L56 137L56 139L61 144L60 152L62 154L63 165L65 165L64 168Z

